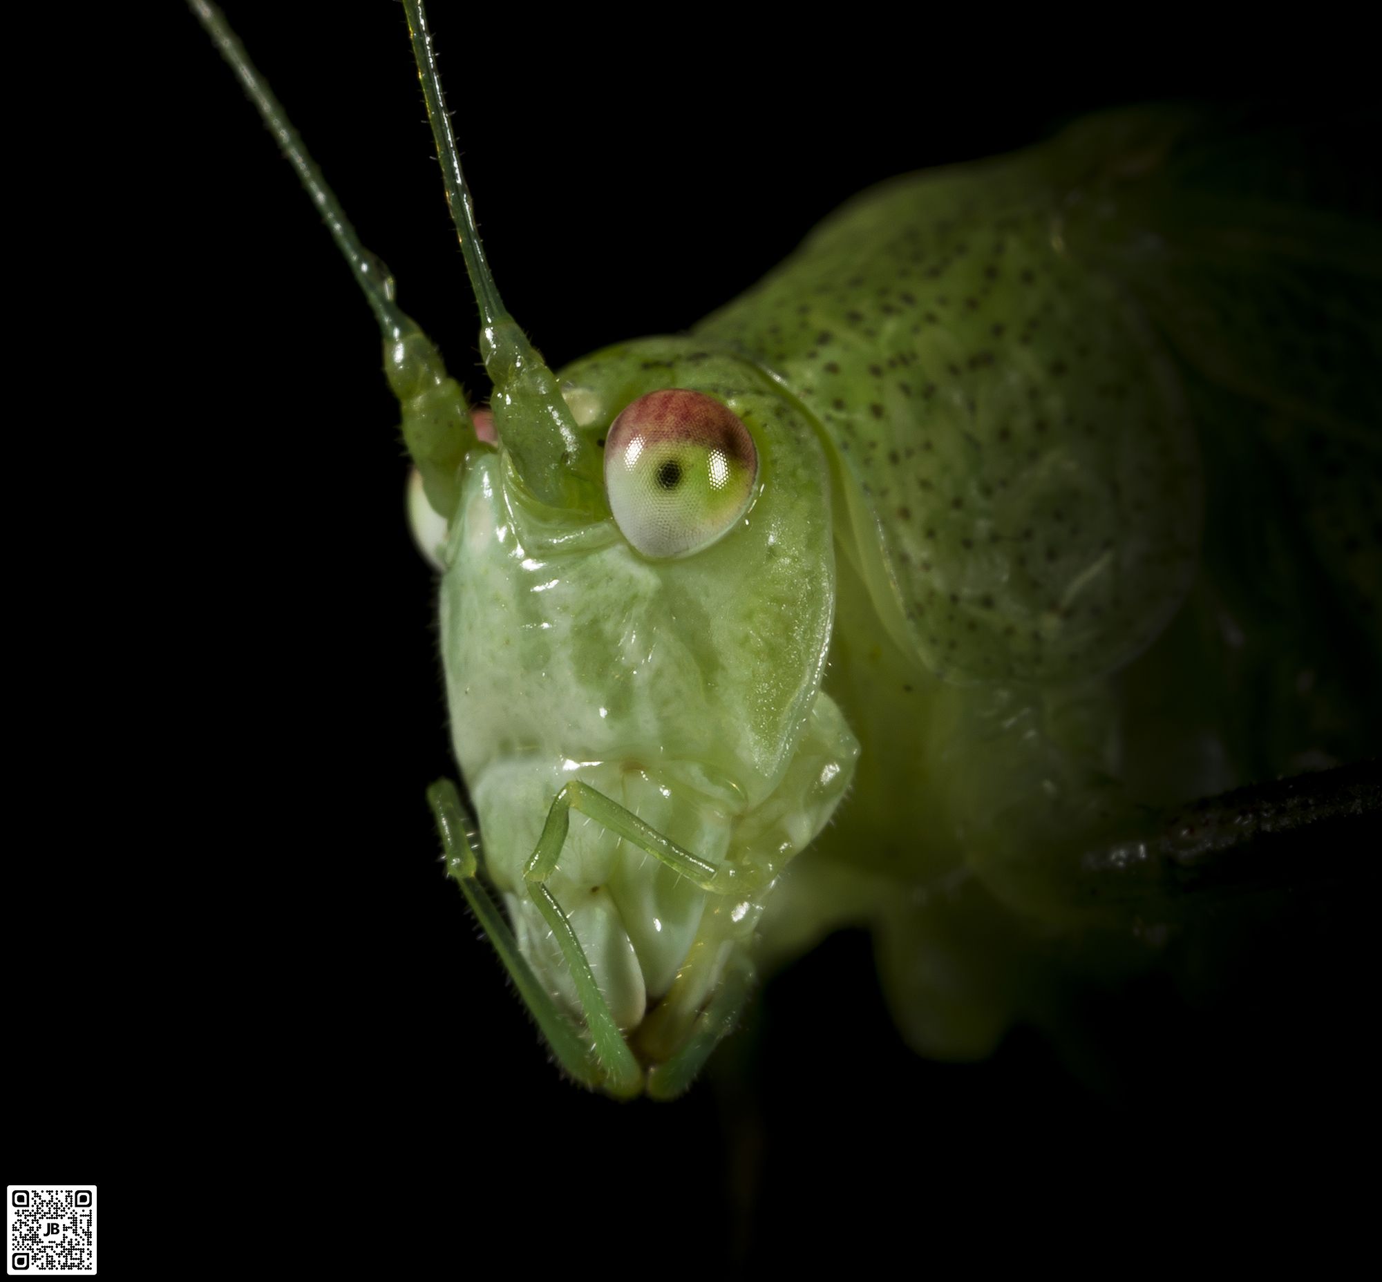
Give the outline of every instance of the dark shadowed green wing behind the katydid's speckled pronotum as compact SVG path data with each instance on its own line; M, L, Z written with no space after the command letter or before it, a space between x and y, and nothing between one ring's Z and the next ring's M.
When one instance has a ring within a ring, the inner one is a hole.
M1071 231L1175 352L1213 495L1206 562L1226 601L1253 626L1305 613L1316 630L1342 629L1372 663L1382 196L1365 157L1379 124L1375 111L1219 117L1168 149L1129 214Z

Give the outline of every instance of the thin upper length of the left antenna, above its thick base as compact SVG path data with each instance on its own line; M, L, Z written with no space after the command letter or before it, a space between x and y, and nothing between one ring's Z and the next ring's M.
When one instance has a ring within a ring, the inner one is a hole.
M240 44L239 37L231 30L225 15L214 4L210 4L209 0L188 0L188 4L216 43L221 57L229 64L231 69L239 77L240 84L245 86L245 93L249 94L264 124L268 126L269 133L274 134L283 149L283 155L287 156L293 169L297 170L297 177L307 189L307 195L312 198L312 203L322 211L326 228L330 231L336 247L351 265L359 287L365 291L365 297L369 300L369 305L379 319L379 327L383 330L384 338L397 341L404 334L415 332L417 326L394 304L394 278L388 274L388 268L361 245L355 228L351 225L350 218L346 217L346 210L341 209L340 202L336 199L336 193L326 185L326 180L316 167L316 162L308 155L297 130L289 122L282 104L274 97L274 91L264 82L254 64L250 62L249 54L245 52L245 46Z

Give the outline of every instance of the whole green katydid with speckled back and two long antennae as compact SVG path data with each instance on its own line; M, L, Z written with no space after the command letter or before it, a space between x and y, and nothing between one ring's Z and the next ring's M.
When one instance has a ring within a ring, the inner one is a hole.
M575 1080L677 1094L755 974L844 923L911 1044L981 1055L1053 939L1135 966L1169 912L1090 894L1088 851L1365 754L1382 254L1280 138L1125 111L898 178L688 333L551 373L409 0L493 384L473 414L193 8L383 327L468 805L430 798Z

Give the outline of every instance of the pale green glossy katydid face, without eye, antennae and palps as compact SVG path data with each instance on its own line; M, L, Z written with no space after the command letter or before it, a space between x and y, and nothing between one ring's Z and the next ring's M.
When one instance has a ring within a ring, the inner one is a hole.
M473 459L441 594L456 754L488 866L528 960L572 1013L568 973L521 894L564 783L591 785L710 863L752 869L745 895L708 895L598 823L572 825L549 887L626 1029L674 981L683 1014L694 1011L720 945L752 934L761 892L829 818L857 753L820 693L835 569L829 472L804 419L750 366L688 340L615 348L562 381L582 434L607 450L627 441L627 417L622 434L611 425L630 405L661 408L677 387L698 414L681 435L665 414L654 427L683 475L721 438L730 481L756 460L752 504L713 489L683 504L692 540L706 510L712 524L728 511L732 528L695 551L648 555L612 518L533 503L500 448ZM681 537L674 519L662 528Z

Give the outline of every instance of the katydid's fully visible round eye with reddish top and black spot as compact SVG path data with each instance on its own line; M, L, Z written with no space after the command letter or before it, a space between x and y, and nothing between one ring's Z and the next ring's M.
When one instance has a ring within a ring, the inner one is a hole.
M648 392L605 438L609 510L645 557L709 547L744 515L757 475L748 428L701 392Z

